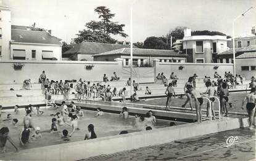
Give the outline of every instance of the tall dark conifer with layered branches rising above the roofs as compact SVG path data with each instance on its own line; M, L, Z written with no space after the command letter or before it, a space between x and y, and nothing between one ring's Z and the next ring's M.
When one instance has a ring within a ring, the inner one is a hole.
M113 39L111 35L119 34L122 37L128 36L123 32L123 27L125 25L111 21L115 14L112 14L110 9L105 6L99 6L94 9L94 11L99 15L101 21L91 21L86 23L86 29L79 31L79 34L76 34L78 36L74 40L76 43L91 41L113 44L117 42L117 40Z

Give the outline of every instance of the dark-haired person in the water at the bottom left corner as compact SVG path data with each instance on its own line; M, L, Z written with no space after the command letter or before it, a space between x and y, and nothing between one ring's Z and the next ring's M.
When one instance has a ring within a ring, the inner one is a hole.
M18 147L14 144L14 141L12 141L12 139L9 136L9 128L2 127L0 129L0 148L1 148L2 153L6 152L6 142L7 142L7 140L10 142L10 144L12 144L12 146L15 147L16 152L19 152Z

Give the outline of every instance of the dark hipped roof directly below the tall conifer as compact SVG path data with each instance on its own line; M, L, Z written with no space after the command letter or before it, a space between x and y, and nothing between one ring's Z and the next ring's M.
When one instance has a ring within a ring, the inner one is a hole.
M125 47L130 47L130 45L121 45L121 44L104 44L99 42L81 42L80 44L70 45L72 48L62 53L64 55L68 54L84 54L84 55L93 55L97 53L108 52L110 50L122 49ZM133 45L133 48L138 48Z

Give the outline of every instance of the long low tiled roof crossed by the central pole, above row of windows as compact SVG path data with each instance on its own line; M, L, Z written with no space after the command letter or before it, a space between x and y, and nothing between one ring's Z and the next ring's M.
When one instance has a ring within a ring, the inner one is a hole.
M109 52L99 53L93 55L93 57L101 57L103 55L130 55L130 48L122 48L112 50ZM133 49L133 55L136 56L151 56L151 57L187 57L184 54L178 54L173 50L158 50L158 49Z

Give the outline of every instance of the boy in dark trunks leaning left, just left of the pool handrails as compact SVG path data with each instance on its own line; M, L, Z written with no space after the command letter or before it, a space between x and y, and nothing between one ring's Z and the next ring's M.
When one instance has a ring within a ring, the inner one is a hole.
M196 116L197 116L197 123L202 122L202 110L201 106L204 103L202 96L200 96L200 92L198 92L192 85L187 85L189 92L195 99L195 106L196 106Z

